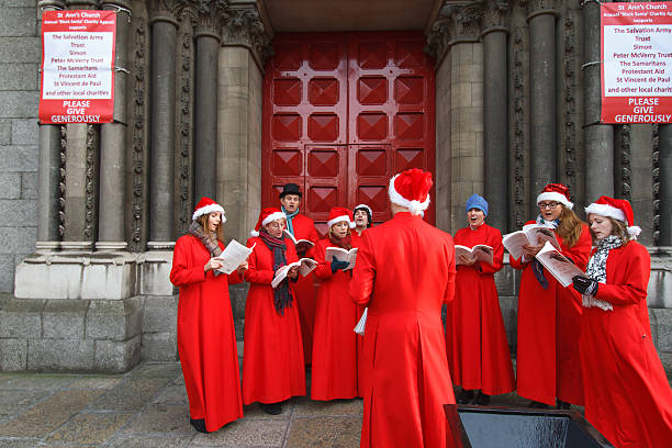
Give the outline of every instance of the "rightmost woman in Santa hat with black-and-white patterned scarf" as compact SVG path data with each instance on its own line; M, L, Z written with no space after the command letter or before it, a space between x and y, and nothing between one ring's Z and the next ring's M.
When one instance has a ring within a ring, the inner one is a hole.
M574 278L582 294L585 418L618 448L672 447L672 390L651 340L651 257L634 239L630 203L600 198L585 209L595 249Z

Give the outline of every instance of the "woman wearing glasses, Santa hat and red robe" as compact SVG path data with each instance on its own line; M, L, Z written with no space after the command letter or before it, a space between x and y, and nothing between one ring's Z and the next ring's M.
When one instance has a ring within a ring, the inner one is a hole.
M581 270L591 253L587 225L572 211L569 188L549 183L537 197L539 215L527 224L553 228L562 255ZM583 405L583 382L579 358L581 296L563 288L535 259L540 246L525 246L522 259L511 266L522 269L518 293L516 381L518 395L531 400L530 407L570 403Z

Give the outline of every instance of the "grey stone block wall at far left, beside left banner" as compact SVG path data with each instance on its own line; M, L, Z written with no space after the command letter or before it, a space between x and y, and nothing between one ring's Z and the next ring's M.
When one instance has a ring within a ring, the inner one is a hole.
M34 0L3 1L0 16L0 293L37 235L40 41Z

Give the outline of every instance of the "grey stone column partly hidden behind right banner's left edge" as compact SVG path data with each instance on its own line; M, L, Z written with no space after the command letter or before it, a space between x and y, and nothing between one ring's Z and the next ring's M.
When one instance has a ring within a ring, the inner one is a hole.
M603 194L614 195L614 128L600 123L600 4L582 2L583 8L583 104L585 142L585 203Z

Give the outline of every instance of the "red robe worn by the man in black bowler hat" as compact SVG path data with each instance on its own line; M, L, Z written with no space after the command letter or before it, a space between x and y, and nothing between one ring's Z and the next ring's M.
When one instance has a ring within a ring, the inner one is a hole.
M294 231L294 238L296 239L307 239L311 243L317 243L317 239L320 239L313 220L301 213L292 219L292 229ZM304 257L312 258L313 250L309 250ZM313 352L313 326L315 321L315 298L317 294L313 273L311 272L305 277L299 276L299 280L294 283L294 299L301 322L303 356L305 358L305 363L310 365Z

